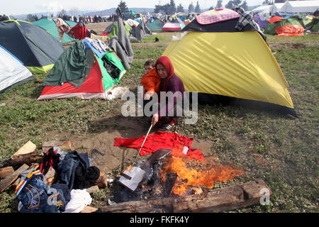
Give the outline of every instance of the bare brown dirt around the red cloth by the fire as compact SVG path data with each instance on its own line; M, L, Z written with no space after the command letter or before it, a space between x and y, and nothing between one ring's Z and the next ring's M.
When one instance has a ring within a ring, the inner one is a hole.
M131 165L138 150L133 148L114 147L114 139L118 138L139 138L145 135L147 129L138 121L123 116L107 116L99 120L92 121L89 133L84 135L70 135L69 133L51 134L46 138L50 140L68 139L72 142L72 149L79 153L88 153L94 160L92 165L98 167L106 174L120 167ZM152 130L150 133L153 133ZM194 139L192 148L201 150L204 157L208 160L214 160L211 157L210 150L212 142L207 140ZM96 149L98 151L93 151ZM141 159L142 157L138 157Z

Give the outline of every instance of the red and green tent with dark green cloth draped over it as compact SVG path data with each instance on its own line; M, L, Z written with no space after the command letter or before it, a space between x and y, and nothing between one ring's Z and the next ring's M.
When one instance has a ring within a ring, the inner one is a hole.
M43 82L38 100L106 99L108 90L118 84L126 70L115 52L98 57L77 40L59 57Z

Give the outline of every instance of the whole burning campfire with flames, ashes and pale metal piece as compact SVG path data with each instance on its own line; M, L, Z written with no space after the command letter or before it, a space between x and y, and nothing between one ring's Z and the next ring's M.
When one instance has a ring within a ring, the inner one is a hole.
M145 162L123 172L113 196L116 203L143 199L201 194L213 189L214 182L227 182L242 170L187 157L182 148L157 150Z

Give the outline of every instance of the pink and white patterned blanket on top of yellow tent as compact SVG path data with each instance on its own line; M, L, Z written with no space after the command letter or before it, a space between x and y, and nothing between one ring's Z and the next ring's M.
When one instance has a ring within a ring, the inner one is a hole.
M196 16L196 21L200 24L211 24L234 18L240 18L240 14L231 9L219 8L201 13L199 16Z

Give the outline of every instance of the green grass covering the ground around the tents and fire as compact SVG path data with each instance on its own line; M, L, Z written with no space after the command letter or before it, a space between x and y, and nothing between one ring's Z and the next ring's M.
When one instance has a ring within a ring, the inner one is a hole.
M171 33L170 35L173 35ZM169 34L159 34L160 42L167 42ZM318 43L318 35L280 38L267 35L269 43ZM142 40L152 43L152 38ZM133 46L131 69L121 79L121 86L136 89L146 60L156 60L165 45ZM298 118L240 106L198 106L195 125L177 126L176 131L189 137L211 141L211 154L221 164L245 170L245 175L233 182L216 183L216 187L252 181L257 178L272 189L270 204L255 205L230 212L318 212L318 45L295 48L276 45L272 49L284 72L296 106ZM45 74L35 75L44 79ZM14 87L0 94L0 160L12 155L28 140L38 148L43 140L58 139L62 135L87 135L91 123L106 112L119 114L121 100L59 99L36 101L42 91L35 81ZM55 134L55 135L54 135ZM111 175L118 175L115 169ZM111 188L92 195L92 206L102 206ZM17 212L18 199L12 187L0 194L0 212Z

